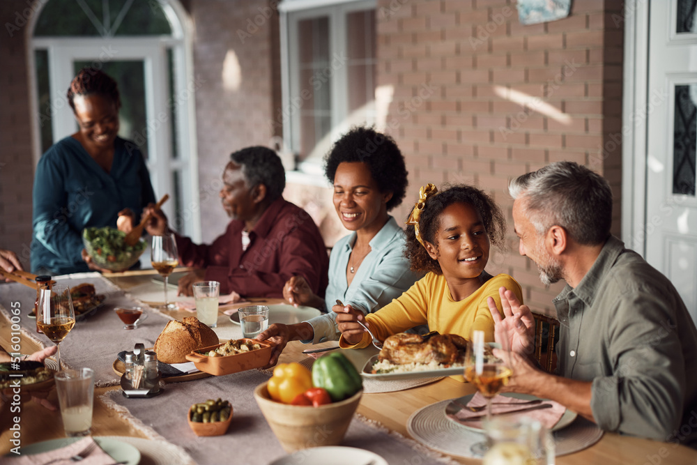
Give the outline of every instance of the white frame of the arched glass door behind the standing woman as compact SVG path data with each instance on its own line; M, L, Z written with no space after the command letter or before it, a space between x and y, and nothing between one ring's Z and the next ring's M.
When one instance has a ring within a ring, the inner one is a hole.
M166 130L155 131L154 137L148 137L148 169L151 173L153 188L156 195L173 192L172 176L179 171L181 181L181 207L183 218L182 234L190 236L194 241L201 241L201 217L199 208L199 174L196 141L196 121L194 118L194 92L196 84L193 73L192 58L192 24L184 8L177 0L157 0L172 29L171 36L141 36L141 37L34 37L36 20L41 15L45 3L40 3L36 14L30 18L26 28L27 63L29 63L29 98L31 101L31 132L33 140L34 166L42 155L40 125L38 118L38 96L36 91L37 49L47 49L49 55L49 85L51 96L63 98L72 79L72 61L93 59L95 47L118 47L119 54L114 58L141 59L144 61L146 82L146 118L155 123L158 112L167 108L167 86L158 82L167 82L163 70L167 68L167 49L171 49L173 61L173 95L178 106L174 121L177 128L178 158L169 157L172 153L169 127ZM66 76L68 83L66 84ZM155 83L155 85L153 85ZM57 142L77 131L77 123L67 102L65 105L52 105L53 142ZM158 121L159 122L159 121ZM162 123L163 125L167 123ZM174 220L174 202L163 206L165 213Z

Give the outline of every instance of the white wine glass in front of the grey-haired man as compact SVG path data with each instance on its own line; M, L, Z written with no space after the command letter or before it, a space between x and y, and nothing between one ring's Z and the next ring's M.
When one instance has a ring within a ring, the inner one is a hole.
M503 351L509 350L499 344L485 343L484 331L474 330L467 343L465 355L465 379L473 383L480 394L487 399L487 422L491 421L491 399L508 384L508 380L513 376L513 370L509 364L493 355L491 349L494 347ZM510 360L506 356L503 358ZM489 450L489 444L487 441L475 443L471 450L476 456L482 457Z

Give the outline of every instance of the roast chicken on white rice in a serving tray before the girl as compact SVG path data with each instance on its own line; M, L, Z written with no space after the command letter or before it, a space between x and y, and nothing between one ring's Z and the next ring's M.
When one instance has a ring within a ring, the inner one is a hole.
M361 376L378 381L463 374L467 341L454 334L398 333L363 366Z

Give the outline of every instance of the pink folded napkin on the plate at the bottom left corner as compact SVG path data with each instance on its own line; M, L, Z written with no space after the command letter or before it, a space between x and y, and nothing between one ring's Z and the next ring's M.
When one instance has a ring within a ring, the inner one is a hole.
M70 445L66 445L60 449L41 452L40 454L21 455L19 457L3 457L3 464L11 465L72 465L76 464L75 460L70 457L82 457L79 460L81 465L114 465L116 460L109 457L107 452L104 452L99 447L97 441L92 439L92 436L86 436L79 441L75 441Z

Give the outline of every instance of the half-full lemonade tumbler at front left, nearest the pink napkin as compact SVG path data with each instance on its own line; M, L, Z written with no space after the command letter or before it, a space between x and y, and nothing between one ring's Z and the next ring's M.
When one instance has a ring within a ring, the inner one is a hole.
M89 436L92 427L94 371L64 369L56 373L56 392L66 436Z

